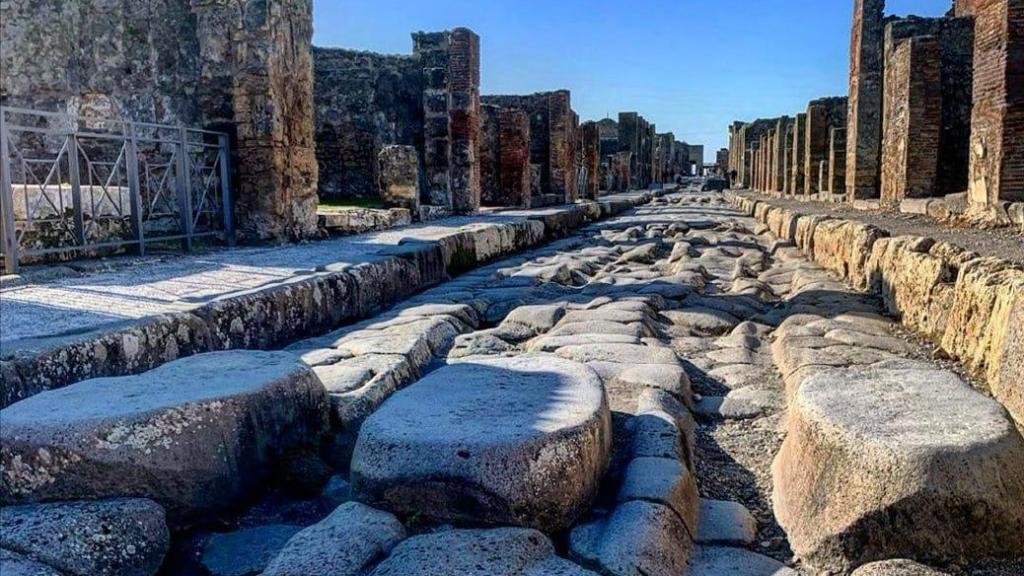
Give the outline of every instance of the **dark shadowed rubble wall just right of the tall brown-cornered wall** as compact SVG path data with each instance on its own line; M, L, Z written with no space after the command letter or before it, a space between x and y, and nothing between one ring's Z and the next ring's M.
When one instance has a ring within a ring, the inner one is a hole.
M324 198L377 198L386 145L423 151L423 67L415 56L313 48L316 159Z

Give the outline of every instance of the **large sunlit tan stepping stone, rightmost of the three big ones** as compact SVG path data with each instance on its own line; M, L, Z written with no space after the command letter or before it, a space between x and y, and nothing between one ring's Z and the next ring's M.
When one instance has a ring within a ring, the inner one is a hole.
M1024 440L1001 406L947 371L808 378L773 476L775 516L817 569L1024 553Z

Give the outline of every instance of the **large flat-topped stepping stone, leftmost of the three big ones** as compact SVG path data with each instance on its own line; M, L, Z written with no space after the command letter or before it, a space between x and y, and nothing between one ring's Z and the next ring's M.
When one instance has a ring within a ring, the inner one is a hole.
M318 442L328 398L295 355L238 351L45 392L0 420L2 499L147 497L176 526L231 505L276 455Z

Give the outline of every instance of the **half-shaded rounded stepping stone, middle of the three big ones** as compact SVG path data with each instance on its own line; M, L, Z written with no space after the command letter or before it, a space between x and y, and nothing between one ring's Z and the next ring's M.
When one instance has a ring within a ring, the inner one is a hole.
M593 500L610 427L586 366L540 355L451 364L362 424L353 496L401 515L555 532Z

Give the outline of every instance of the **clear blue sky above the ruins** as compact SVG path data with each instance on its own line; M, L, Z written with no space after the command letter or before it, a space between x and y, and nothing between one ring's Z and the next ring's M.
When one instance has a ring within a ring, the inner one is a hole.
M887 12L949 5L889 0ZM732 120L846 93L853 0L314 0L313 11L317 46L376 52L469 27L483 93L568 88L584 120L637 111L714 160Z

